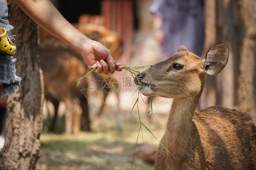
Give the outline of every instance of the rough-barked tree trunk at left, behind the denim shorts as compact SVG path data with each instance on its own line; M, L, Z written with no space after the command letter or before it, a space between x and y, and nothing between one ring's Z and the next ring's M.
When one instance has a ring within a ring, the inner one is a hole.
M17 75L21 86L8 103L5 146L0 154L1 170L34 170L39 157L42 131L43 80L38 65L37 25L15 4L9 5L14 26Z

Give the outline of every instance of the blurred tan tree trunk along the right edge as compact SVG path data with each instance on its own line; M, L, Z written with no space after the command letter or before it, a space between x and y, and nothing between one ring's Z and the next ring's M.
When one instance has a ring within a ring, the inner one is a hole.
M241 39L241 60L238 78L238 106L243 112L251 112L256 118L255 58L256 58L256 1L239 0L243 26Z

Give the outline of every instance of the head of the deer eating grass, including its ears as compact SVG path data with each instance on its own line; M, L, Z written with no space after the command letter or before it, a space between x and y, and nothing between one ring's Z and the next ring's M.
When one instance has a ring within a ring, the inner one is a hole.
M225 67L229 48L225 44L212 47L200 58L184 46L169 59L139 73L134 83L145 96L177 98L200 94L207 74L215 75Z

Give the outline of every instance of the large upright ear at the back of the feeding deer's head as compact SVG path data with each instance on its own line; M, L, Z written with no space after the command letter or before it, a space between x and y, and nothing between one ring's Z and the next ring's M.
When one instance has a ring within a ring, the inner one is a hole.
M218 44L212 47L202 58L205 73L215 75L225 67L229 57L229 48L226 44Z

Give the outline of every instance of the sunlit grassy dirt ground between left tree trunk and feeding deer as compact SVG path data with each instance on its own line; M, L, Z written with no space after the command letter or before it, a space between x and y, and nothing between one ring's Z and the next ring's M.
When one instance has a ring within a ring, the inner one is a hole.
M114 110L105 112L102 118L95 120L92 132L80 132L73 135L43 133L41 135L41 158L38 170L130 170L133 152L138 136L138 113L133 112L133 121L129 112L121 112L122 128L115 129ZM152 117L140 113L142 122L152 131L158 140L164 131L164 123L157 123ZM159 115L163 119L165 115ZM103 121L101 126L99 122ZM97 124L97 127L95 126ZM143 128L138 144L150 144L157 148L159 142ZM153 170L154 165L134 158L133 170Z

